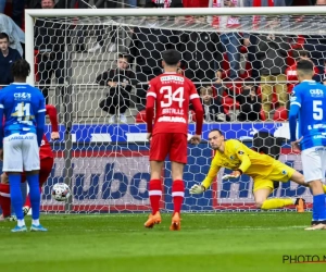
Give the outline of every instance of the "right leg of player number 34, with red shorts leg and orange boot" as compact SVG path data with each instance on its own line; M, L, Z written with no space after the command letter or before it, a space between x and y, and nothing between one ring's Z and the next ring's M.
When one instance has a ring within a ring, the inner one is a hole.
M170 150L172 165L172 197L174 202L174 213L170 230L179 231L181 227L181 206L185 197L184 168L187 163L187 135L181 133L173 134Z

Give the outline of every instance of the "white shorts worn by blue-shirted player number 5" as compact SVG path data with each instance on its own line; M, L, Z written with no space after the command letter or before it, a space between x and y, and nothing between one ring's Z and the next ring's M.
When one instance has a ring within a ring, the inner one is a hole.
M326 147L312 147L301 152L302 170L304 181L325 180L326 171Z

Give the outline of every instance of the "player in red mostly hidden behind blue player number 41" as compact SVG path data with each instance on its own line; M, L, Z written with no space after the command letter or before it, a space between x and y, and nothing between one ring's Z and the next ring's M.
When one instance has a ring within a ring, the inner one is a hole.
M58 114L57 109L52 104L46 106L47 115L50 118L52 133L51 139L59 139L59 127L58 127ZM41 190L43 184L48 181L49 175L51 174L53 168L53 152L51 146L43 135L41 146L39 149L39 157L40 157L40 171L39 171L39 188ZM22 182L25 182L26 177L23 173ZM11 218L11 199L10 199L10 187L8 183L8 176L5 173L1 175L1 183L0 183L0 207L2 209L2 215L0 215L0 221L3 220L12 220ZM26 197L26 201L24 205L24 214L26 215L30 209L30 200L29 196Z

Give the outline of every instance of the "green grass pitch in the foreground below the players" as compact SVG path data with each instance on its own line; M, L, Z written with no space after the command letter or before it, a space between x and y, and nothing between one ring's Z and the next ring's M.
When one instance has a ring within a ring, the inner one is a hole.
M283 263L284 255L326 256L326 231L308 232L310 213L171 215L153 230L147 214L42 215L48 233L10 233L0 224L2 272L276 272L326 271L326 263ZM30 225L30 219L27 219Z

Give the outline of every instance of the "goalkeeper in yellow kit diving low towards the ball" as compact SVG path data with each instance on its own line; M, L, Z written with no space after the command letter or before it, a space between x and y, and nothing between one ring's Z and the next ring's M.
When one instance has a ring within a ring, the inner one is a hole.
M220 129L212 129L209 134L209 143L216 151L208 176L200 185L193 185L190 194L202 194L206 190L221 168L233 170L233 173L223 178L237 178L247 174L253 178L253 195L256 208L268 210L285 206L296 205L298 212L304 211L302 198L269 198L274 189L273 181L293 181L306 186L304 177L294 169L273 159L267 154L261 154L236 139L225 140ZM326 186L324 185L324 191Z

